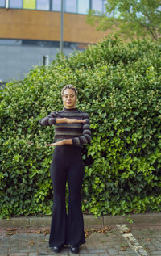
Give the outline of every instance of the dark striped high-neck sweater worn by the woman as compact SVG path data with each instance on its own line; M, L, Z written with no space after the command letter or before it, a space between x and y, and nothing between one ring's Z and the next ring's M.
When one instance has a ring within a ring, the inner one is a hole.
M76 118L78 120L85 120L85 123L56 124L56 118ZM62 141L64 139L72 139L72 145L81 146L89 144L91 141L91 131L89 124L89 115L85 112L78 111L77 108L68 109L64 107L62 111L53 111L50 115L44 117L39 121L41 125L55 126L54 142Z

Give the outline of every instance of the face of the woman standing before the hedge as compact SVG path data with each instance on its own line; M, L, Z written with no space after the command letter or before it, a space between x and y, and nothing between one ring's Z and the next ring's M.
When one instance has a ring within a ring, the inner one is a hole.
M64 90L64 94L63 94L63 103L64 103L64 107L66 108L75 108L76 107L76 93L74 90L72 89L66 89Z

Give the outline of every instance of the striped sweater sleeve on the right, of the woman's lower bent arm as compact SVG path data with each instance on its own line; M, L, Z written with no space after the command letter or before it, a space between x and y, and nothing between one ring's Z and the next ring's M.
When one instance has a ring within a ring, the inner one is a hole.
M72 138L72 145L84 145L89 144L91 141L91 130L89 123L89 115L85 113L84 119L86 122L83 123L83 135Z

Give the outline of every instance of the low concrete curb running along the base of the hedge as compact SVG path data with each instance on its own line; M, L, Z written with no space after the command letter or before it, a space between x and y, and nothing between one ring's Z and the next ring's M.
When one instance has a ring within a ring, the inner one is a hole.
M117 225L117 224L128 224L129 220L133 220L134 224L137 223L161 223L161 212L155 213L143 213L143 214L131 214L129 216L100 216L95 217L91 214L84 214L85 228L88 228L92 225ZM39 227L39 226L50 226L51 216L44 217L15 217L10 218L9 220L2 219L0 220L0 227Z

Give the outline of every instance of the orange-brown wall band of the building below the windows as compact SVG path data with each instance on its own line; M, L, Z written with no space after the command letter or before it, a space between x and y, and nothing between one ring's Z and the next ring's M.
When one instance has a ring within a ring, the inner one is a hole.
M64 13L64 41L97 43L108 32L96 31L85 15ZM60 40L60 12L0 9L0 38Z

